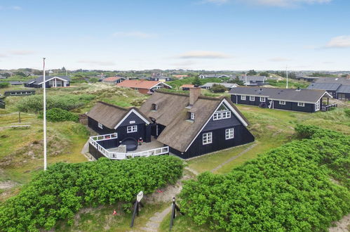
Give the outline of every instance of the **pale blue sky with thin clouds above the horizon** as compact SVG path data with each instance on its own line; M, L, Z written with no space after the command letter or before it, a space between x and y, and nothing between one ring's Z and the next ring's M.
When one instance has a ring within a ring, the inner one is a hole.
M0 0L0 69L350 70L349 0Z

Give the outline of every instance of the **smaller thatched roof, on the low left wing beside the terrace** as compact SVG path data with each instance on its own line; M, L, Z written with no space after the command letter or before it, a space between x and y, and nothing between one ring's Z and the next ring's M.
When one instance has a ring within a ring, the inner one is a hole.
M142 112L137 110L137 108L121 108L103 101L98 101L96 103L96 105L88 112L88 117L100 122L109 129L114 129L114 127L116 127L116 125L119 124L119 122L123 120L126 115L128 115L130 110L135 110L137 113L142 115L142 117L144 117L148 123L150 123L148 118L143 115Z

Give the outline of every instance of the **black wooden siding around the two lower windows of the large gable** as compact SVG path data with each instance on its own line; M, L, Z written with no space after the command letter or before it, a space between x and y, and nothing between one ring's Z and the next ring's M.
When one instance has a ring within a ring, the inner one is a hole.
M229 128L234 128L234 138L226 139L225 130ZM213 143L203 145L203 133L208 132L210 131L202 131L191 144L187 152L181 153L178 150L170 148L170 153L182 157L183 159L188 159L206 153L213 153L217 150L231 148L245 143L251 143L255 140L253 134L251 134L247 128L245 128L243 125L238 125L211 131L213 133Z

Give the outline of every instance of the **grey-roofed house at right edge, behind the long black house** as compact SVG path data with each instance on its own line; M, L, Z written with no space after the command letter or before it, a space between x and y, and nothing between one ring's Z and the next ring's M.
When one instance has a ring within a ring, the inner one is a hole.
M345 77L319 77L307 89L322 89L328 91L333 98L350 99L350 79Z

